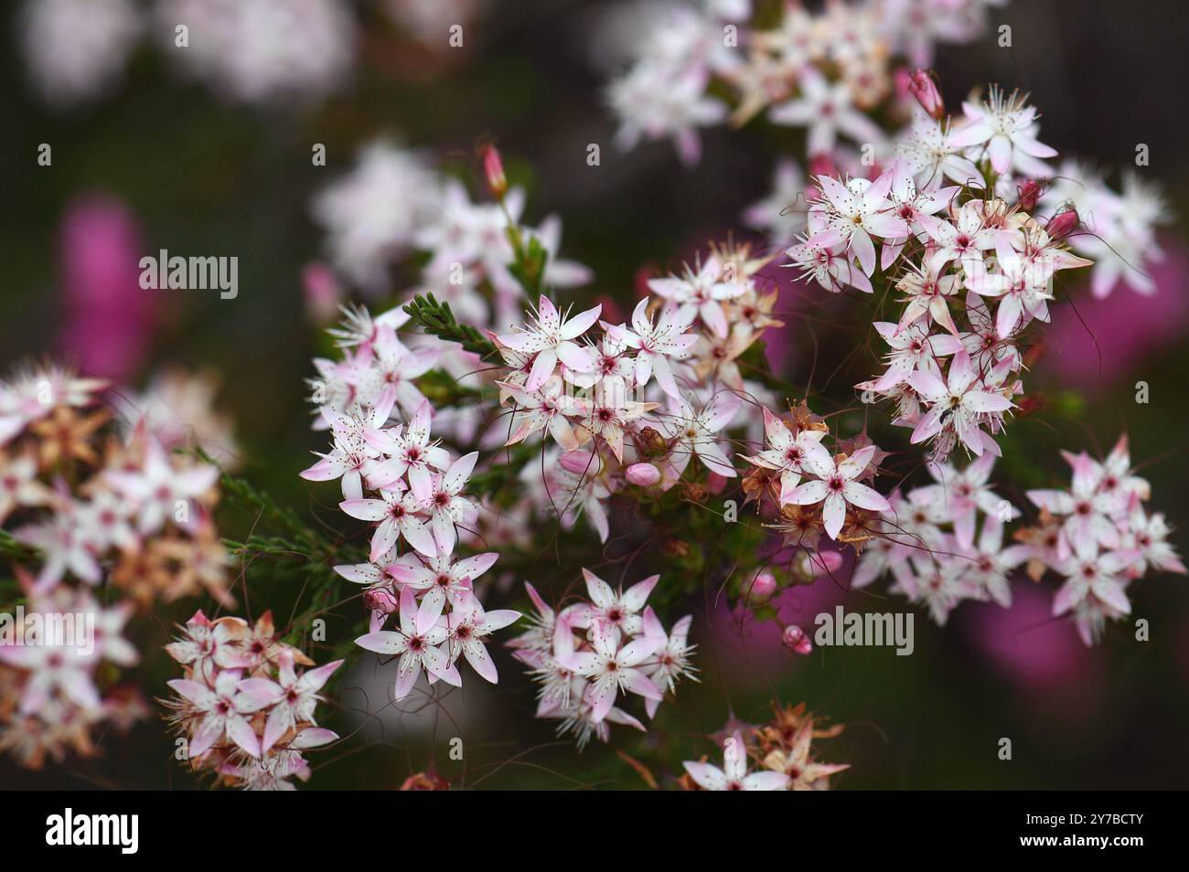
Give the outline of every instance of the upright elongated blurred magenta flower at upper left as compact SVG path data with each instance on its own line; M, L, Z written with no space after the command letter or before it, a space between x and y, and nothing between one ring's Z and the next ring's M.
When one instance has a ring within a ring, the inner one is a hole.
M127 380L149 350L156 297L140 287L140 228L106 195L75 200L59 230L65 323L58 348L88 375Z

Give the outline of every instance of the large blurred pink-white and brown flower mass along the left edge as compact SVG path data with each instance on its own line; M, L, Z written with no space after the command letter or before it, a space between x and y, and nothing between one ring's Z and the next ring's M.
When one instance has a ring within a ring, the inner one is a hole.
M95 633L4 645L4 681L15 694L5 696L20 702L0 714L2 744L33 766L67 748L89 754L93 726L143 714L133 693L105 695L94 681L101 662L113 666L102 670L113 687L118 668L136 664L120 638L134 608L200 593L232 601L228 556L210 519L219 470L169 454L144 418L119 438L105 387L52 366L0 383L0 525L26 612L76 617ZM100 606L88 588L101 585L122 599ZM80 645L93 651L71 650ZM17 741L14 731L26 738Z

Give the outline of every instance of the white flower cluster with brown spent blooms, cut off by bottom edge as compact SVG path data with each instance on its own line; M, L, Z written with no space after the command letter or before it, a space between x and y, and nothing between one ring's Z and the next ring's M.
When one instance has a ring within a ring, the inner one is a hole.
M849 764L819 763L814 739L832 739L843 727L819 728L819 719L805 710L805 703L773 703L768 723L735 729L723 743L723 767L687 760L681 784L686 790L829 790L830 776L850 769ZM760 769L748 772L754 759Z

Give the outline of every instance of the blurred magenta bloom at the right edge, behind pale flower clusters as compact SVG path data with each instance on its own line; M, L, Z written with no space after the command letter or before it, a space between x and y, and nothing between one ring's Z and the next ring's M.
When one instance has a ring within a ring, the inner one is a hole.
M1151 265L1156 293L1078 293L1075 303L1053 308L1044 369L1067 385L1106 385L1179 340L1189 320L1189 258L1171 241L1164 245L1164 260Z

